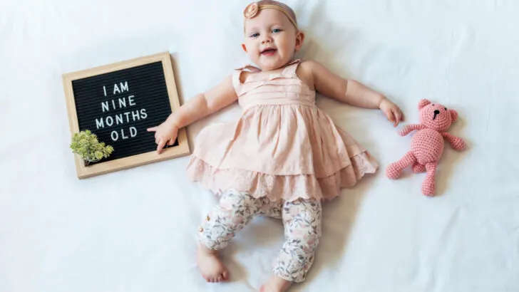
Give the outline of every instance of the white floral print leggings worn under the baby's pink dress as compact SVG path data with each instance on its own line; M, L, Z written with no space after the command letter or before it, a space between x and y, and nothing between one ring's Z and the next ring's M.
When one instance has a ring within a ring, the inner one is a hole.
M274 274L287 281L302 282L314 263L314 252L321 236L321 202L298 199L294 202L271 202L244 192L223 192L199 229L200 243L209 249L225 248L235 234L255 216L282 219L285 242Z

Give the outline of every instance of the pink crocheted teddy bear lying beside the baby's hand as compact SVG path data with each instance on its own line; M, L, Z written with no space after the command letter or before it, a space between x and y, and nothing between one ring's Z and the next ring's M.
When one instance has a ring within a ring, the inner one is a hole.
M418 110L420 110L420 124L406 125L399 132L399 135L405 136L413 130L418 130L411 138L411 151L407 152L401 160L391 163L386 169L386 175L390 179L396 179L408 166L411 166L415 173L427 170L421 191L424 195L432 197L436 189L436 166L443 154L443 138L458 151L465 148L465 142L446 132L458 118L456 110L448 110L441 104L431 103L425 99L420 100Z

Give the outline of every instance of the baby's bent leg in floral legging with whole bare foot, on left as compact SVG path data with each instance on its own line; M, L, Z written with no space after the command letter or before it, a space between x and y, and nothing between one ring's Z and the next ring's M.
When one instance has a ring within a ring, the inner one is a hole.
M197 264L207 281L227 280L228 271L220 261L218 251L249 224L261 207L262 200L247 193L227 191L222 194L220 204L207 215L198 232Z

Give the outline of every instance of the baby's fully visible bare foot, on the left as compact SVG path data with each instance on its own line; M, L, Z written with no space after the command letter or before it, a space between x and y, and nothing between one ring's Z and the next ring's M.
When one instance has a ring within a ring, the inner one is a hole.
M229 272L222 264L222 261L220 261L218 251L213 251L207 249L205 246L199 245L197 249L197 264L202 277L204 277L207 282L217 283L227 281Z

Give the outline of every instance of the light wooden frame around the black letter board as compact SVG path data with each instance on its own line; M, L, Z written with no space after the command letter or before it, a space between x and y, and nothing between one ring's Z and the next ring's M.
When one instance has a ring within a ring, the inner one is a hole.
M66 105L68 110L68 120L71 130L71 135L79 132L78 117L76 114L76 102L74 100L74 93L72 88L72 81L82 78L88 78L94 75L101 75L104 73L111 73L126 68L142 66L148 63L155 63L162 61L166 86L168 88L168 95L170 98L171 110L174 112L180 108L180 101L178 99L177 86L175 84L175 75L173 74L173 66L171 63L171 56L169 52L157 53L151 56L134 58L128 61L113 63L106 66L91 68L84 71L77 71L73 73L63 74L63 86L65 89ZM181 157L190 154L190 148L187 143L187 133L185 128L178 131L178 146L164 148L159 155L156 151L145 152L140 155L133 155L130 157L123 157L117 160L110 160L107 162L98 162L96 164L85 166L83 159L79 155L74 155L76 161L76 173L79 179L93 177L108 172L116 172L119 170L126 170L131 167L138 167L153 162L169 160L175 157Z

